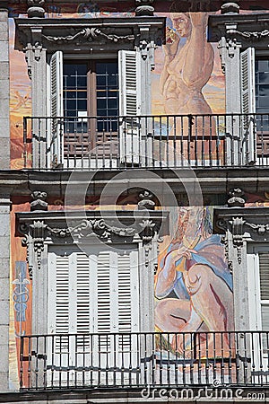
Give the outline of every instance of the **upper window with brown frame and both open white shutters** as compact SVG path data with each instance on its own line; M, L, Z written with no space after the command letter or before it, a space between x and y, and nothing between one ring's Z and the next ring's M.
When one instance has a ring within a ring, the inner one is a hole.
M139 125L119 117L140 114L140 63L134 50L120 50L117 59L106 60L65 60L61 51L52 55L51 117L65 117L53 119L53 162L72 167L77 157L88 164L138 159Z

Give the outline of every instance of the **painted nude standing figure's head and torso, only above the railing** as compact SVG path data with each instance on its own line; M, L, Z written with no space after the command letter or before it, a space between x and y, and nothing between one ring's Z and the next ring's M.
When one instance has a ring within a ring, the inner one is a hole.
M167 114L211 114L202 89L213 71L214 52L205 38L206 13L170 13L161 93ZM182 39L186 42L181 46Z

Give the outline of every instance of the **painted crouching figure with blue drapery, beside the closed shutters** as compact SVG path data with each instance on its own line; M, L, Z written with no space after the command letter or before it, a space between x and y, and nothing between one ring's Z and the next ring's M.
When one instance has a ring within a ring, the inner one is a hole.
M155 319L161 331L233 329L232 280L220 236L212 234L206 208L181 208L176 239L161 259L156 275ZM225 335L223 344L229 349ZM213 341L211 341L213 343ZM173 338L182 353L190 341Z

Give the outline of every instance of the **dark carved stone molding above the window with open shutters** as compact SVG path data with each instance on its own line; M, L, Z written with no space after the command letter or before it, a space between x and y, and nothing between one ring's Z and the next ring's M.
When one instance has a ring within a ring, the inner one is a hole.
M120 48L146 48L148 51L165 40L165 18L142 16L126 18L16 18L15 48L48 53L56 50L89 53ZM77 48L76 48L77 47Z

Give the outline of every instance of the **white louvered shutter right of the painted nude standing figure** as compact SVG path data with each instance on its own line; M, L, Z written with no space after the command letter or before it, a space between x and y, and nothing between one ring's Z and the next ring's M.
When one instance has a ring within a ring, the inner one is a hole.
M241 112L256 113L255 99L255 48L247 48L240 54ZM241 150L243 164L256 162L255 116L242 117Z

